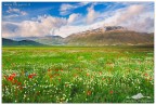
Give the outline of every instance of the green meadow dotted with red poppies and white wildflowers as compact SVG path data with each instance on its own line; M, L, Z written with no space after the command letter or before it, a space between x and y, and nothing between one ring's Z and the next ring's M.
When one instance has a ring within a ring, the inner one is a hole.
M1 73L2 103L154 103L153 48L3 47Z

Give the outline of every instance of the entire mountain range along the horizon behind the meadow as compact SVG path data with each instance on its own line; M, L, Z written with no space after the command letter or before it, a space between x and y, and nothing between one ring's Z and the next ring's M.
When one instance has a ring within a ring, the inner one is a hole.
M2 45L148 45L154 44L154 34L136 32L121 26L106 26L61 36L27 37L15 40L2 39Z

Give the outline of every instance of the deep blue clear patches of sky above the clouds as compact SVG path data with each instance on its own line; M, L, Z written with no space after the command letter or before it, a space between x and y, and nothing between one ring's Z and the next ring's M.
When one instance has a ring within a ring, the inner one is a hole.
M72 13L81 13L86 15L88 13L88 8L96 2L3 2L3 11L2 14L4 16L15 15L18 13L12 12L8 13L9 6L12 9L18 9L21 11L25 11L28 15L25 15L25 18L14 18L16 21L30 19L32 17L37 17L39 15L51 15L55 17L66 17L68 18ZM76 5L76 6L75 6ZM115 5L115 2L105 2L99 3L94 5L94 10L102 12L105 11L109 5ZM63 8L64 6L64 8ZM120 4L116 8L123 8L125 5ZM3 18L5 19L5 18ZM13 21L14 21L13 19Z

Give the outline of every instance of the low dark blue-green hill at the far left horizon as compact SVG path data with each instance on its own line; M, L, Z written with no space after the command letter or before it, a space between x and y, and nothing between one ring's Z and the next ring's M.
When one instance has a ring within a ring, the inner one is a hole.
M43 45L43 44L31 40L15 41L15 40L2 38L2 45Z

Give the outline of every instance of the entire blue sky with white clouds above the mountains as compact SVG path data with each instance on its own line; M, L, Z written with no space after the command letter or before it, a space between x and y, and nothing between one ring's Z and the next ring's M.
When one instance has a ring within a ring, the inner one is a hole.
M104 26L154 32L154 2L2 2L3 38L65 38Z

